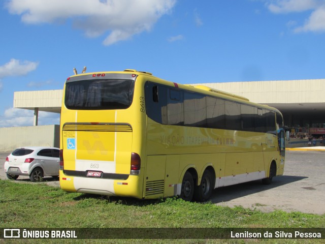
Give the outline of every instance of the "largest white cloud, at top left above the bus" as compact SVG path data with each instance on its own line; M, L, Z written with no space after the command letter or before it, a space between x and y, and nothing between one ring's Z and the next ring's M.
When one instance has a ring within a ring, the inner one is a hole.
M88 37L110 32L103 42L111 45L144 31L169 13L176 0L8 0L11 14L29 24L61 23L73 19L73 26Z

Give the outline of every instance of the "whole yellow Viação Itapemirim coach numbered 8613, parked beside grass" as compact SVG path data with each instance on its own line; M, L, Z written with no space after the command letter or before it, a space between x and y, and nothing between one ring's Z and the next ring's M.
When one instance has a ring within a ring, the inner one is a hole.
M215 188L270 184L284 169L277 109L136 70L69 77L60 133L67 192L206 201Z

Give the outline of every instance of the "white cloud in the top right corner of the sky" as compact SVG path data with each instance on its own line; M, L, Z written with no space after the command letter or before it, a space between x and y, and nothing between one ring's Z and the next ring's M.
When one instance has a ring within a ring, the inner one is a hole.
M276 0L269 3L269 10L275 14L311 11L305 23L294 28L294 32L325 32L325 0ZM287 26L295 25L293 23L297 22L289 21Z

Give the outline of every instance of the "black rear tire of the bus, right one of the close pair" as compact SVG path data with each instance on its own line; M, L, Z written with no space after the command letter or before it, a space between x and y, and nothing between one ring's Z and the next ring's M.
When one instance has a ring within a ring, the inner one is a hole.
M213 190L213 176L210 170L205 170L200 186L194 188L194 199L204 202L210 199Z

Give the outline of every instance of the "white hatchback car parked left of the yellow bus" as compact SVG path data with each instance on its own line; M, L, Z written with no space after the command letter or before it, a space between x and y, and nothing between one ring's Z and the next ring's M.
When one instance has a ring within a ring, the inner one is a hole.
M60 149L56 147L27 146L15 149L5 162L5 172L9 179L27 175L33 182L42 181L44 176L58 179Z

